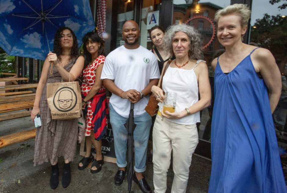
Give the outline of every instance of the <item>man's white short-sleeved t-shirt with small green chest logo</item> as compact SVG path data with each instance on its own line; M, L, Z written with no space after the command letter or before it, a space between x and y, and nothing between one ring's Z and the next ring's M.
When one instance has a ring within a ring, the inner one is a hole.
M126 49L121 46L107 55L101 79L111 79L123 91L143 90L150 79L160 78L158 60L155 55L144 47ZM149 95L135 103L134 117L146 113ZM110 104L122 117L129 117L130 101L112 94Z

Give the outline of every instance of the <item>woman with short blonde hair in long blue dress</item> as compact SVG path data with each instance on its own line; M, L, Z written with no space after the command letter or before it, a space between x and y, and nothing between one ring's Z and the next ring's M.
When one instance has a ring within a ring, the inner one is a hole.
M269 50L242 42L250 15L242 4L215 15L217 37L226 51L212 62L209 193L287 192L272 120L281 93L280 71Z

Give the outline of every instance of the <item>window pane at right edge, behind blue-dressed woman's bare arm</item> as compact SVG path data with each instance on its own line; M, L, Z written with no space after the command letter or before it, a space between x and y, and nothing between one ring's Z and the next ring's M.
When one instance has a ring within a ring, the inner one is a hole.
M274 2L274 1L273 1ZM287 177L287 9L279 1L271 5L269 0L253 0L250 43L266 48L273 54L282 78L282 91L278 105L273 113L280 158L285 179ZM257 11L260 10L260 11Z

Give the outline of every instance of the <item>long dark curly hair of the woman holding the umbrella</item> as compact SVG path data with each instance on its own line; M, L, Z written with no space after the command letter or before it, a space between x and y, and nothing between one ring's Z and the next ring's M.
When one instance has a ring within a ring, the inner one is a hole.
M57 54L58 60L60 62L62 61L61 54L63 52L60 39L61 39L61 35L63 34L63 31L66 29L71 31L71 34L73 37L73 46L71 48L69 60L71 60L72 58L76 58L79 55L77 37L74 31L72 31L69 27L61 27L60 29L58 29L58 31L56 32L54 36L54 53Z

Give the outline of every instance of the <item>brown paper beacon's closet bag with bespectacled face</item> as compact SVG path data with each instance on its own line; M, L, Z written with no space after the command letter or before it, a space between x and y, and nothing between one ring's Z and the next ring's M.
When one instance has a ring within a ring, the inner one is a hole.
M79 82L47 84L47 102L52 119L79 118L82 115L82 97Z

